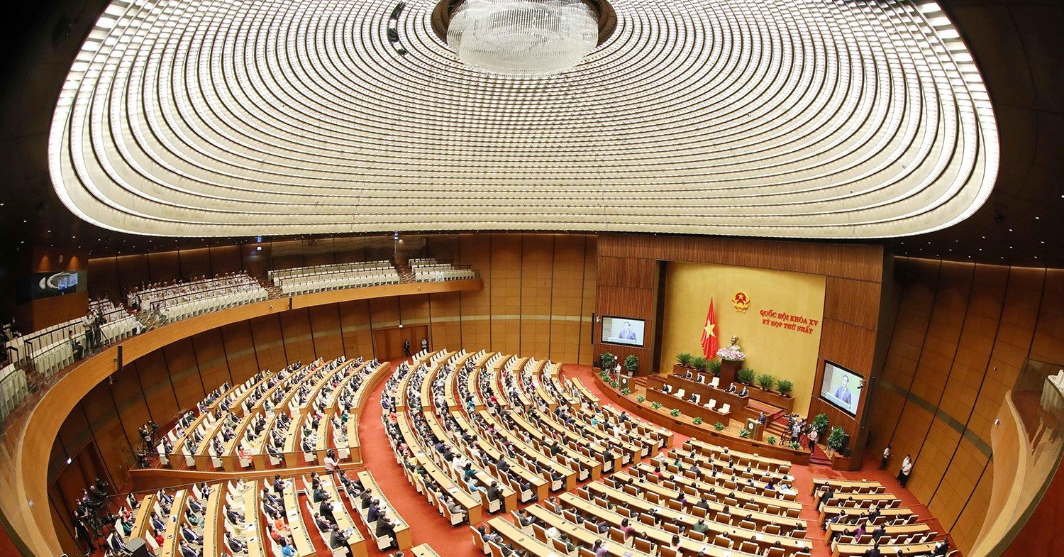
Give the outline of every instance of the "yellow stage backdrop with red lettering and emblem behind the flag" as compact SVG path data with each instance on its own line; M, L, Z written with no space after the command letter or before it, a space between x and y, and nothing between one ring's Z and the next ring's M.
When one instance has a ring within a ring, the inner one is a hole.
M662 363L680 353L701 355L705 310L713 296L720 346L738 335L745 366L793 381L795 411L804 414L816 378L827 278L709 263L665 265ZM745 311L736 311L733 304L737 292L748 300Z

